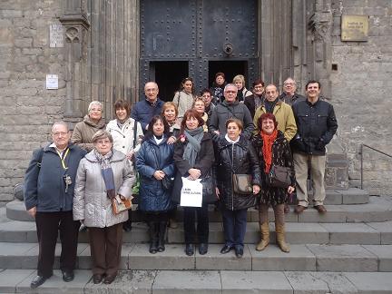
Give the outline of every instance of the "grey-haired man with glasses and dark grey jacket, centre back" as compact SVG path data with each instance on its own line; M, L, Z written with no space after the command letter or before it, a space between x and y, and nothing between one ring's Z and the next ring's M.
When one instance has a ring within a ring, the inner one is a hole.
M236 100L237 86L233 83L228 83L223 91L224 101L218 103L211 115L209 130L211 133L220 135L226 134L226 121L230 118L239 119L243 123L242 134L250 139L250 135L254 130L250 111L244 103L239 103Z

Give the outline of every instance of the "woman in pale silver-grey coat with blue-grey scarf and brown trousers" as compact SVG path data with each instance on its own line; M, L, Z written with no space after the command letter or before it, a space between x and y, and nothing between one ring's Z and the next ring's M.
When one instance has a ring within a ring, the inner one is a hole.
M73 197L73 220L89 228L93 259L93 283L113 282L119 268L122 249L122 222L127 211L113 214L111 199L132 196L131 165L122 152L113 150L110 132L93 135L92 152L79 163Z

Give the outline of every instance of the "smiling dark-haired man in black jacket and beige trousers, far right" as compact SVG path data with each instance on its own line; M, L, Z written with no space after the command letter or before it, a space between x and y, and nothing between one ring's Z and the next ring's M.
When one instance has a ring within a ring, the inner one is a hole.
M308 168L313 184L314 207L325 213L326 197L324 173L326 162L325 146L337 132L338 122L333 106L319 99L321 85L318 81L309 81L306 85L307 100L294 103L293 113L298 132L293 144L294 169L297 178L297 213L308 208L307 178Z

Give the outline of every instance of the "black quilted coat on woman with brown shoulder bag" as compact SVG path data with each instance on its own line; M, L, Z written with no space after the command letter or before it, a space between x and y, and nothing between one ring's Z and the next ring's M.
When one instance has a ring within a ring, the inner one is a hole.
M250 141L240 137L234 144L220 137L216 144L216 174L217 186L220 191L220 201L227 210L237 211L255 205L257 196L251 192L248 195L234 193L232 174L251 174L252 184L261 187L260 165L258 155Z

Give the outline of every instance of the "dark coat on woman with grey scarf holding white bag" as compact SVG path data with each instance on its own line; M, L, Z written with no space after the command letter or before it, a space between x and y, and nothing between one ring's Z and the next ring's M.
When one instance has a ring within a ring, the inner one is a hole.
M182 155L187 143L188 140L185 140L184 142L181 142L181 140L177 140L177 142L174 144L173 158L175 166L177 168L177 172L174 180L174 188L172 191L171 199L176 203L180 203L181 199L181 177L188 177L188 171L191 168L201 170L201 179L204 179L206 176L211 176L211 167L213 162L215 161L212 139L209 133L204 132L204 135L201 139L201 150L196 157L194 166L191 166L188 161L182 159Z

